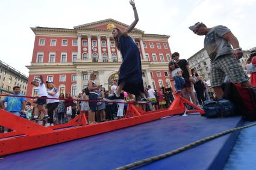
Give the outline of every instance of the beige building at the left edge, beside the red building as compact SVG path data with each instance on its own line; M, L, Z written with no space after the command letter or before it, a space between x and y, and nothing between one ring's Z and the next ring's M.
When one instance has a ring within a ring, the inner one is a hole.
M13 94L14 86L19 86L20 93L26 95L28 77L0 60L0 94Z

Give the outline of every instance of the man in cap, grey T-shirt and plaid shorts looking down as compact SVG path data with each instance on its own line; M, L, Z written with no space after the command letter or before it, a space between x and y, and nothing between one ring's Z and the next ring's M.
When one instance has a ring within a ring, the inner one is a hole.
M242 48L230 29L222 25L207 28L202 22L195 23L189 29L197 35L205 35L204 47L211 59L211 87L218 99L223 97L221 85L225 77L231 82L251 87L248 76L239 63L243 56Z

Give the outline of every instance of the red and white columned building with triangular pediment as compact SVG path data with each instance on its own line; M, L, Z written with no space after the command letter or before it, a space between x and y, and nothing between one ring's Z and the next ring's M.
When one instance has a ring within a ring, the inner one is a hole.
M66 28L31 28L36 35L28 82L44 76L54 81L61 93L76 96L87 86L90 73L97 74L97 83L108 90L122 62L111 35L111 28L128 28L113 19L100 20ZM171 60L168 35L145 34L134 28L129 34L137 44L142 58L144 85L153 88L171 84L168 62ZM133 65L131 65L133 67ZM173 87L173 85L172 85ZM28 96L36 96L37 89L30 83Z

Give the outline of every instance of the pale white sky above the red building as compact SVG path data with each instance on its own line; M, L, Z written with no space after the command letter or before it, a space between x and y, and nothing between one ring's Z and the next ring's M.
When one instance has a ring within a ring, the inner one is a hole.
M204 37L193 34L189 25L200 21L208 27L225 25L243 49L255 47L256 0L136 0L139 23L149 34L170 35L172 52L189 58L203 47ZM146 4L145 4L146 3ZM73 28L76 25L112 18L130 24L133 9L128 0L1 0L0 59L28 75L34 46L30 27Z

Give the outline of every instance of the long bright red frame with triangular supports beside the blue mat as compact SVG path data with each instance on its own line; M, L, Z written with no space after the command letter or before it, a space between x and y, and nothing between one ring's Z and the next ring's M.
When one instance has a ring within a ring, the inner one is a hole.
M10 133L0 133L0 156L85 138L158 120L170 115L181 114L186 111L184 102L195 107L196 112L204 112L178 94L175 95L175 100L169 109L145 112L137 108L134 103L129 103L125 118L97 124L87 124L85 115L80 114L67 124L44 127L0 109L0 125L14 130Z

